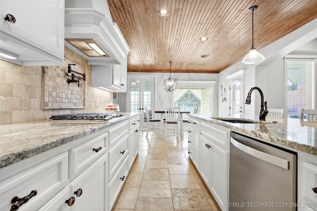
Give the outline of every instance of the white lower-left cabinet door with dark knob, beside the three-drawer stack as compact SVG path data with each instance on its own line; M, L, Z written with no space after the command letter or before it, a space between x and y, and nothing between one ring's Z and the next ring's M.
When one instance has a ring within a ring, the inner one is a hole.
M75 198L75 202L70 207L70 210L106 211L106 164L107 154L98 159L71 183L69 183L69 197ZM82 195L77 197L75 192L79 189L82 189Z

